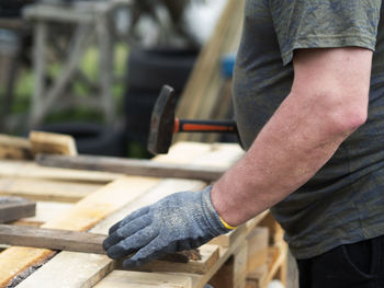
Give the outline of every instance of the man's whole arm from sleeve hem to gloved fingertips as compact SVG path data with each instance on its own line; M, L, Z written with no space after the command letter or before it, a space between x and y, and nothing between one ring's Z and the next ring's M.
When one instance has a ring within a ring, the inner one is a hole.
M126 216L103 247L124 267L197 247L303 185L366 119L372 53L301 50L292 91L246 155L201 192L171 194ZM218 212L218 214L217 214Z

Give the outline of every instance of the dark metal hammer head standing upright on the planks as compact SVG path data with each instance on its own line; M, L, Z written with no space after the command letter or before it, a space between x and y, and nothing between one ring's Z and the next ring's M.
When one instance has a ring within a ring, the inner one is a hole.
M153 154L168 153L174 129L177 95L169 85L163 85L153 110L147 149Z

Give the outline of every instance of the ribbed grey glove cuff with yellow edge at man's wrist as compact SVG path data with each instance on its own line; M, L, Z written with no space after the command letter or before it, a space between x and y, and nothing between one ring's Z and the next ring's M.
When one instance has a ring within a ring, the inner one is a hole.
M206 227L210 229L213 237L217 237L227 233L233 229L224 224L224 221L221 219L215 207L213 206L211 200L211 189L212 185L202 191L202 207Z

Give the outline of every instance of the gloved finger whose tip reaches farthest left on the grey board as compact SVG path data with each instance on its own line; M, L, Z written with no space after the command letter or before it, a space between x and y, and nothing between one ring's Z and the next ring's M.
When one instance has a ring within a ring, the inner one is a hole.
M131 222L116 229L103 241L103 249L106 251L111 246L117 244L120 241L135 234L137 231L143 230L151 222L151 217L148 214L139 216Z

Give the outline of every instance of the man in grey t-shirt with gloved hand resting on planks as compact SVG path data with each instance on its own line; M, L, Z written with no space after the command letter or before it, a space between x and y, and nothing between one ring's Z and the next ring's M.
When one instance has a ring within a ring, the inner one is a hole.
M301 287L384 287L384 14L379 0L247 0L234 103L244 158L212 187L111 228L140 265L271 208ZM383 255L382 255L383 254Z

